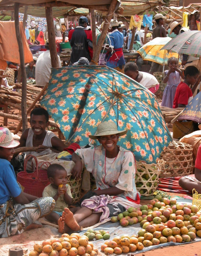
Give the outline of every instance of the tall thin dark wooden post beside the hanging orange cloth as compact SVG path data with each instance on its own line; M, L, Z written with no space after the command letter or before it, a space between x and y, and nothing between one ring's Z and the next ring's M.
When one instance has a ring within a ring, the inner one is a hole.
M24 50L22 45L22 38L20 35L19 28L19 3L14 4L14 17L15 17L15 33L17 38L17 43L19 47L19 59L20 59L20 67L22 74L22 101L21 101L21 111L22 111L22 131L24 131L27 127L27 114L26 114L26 72L24 65Z

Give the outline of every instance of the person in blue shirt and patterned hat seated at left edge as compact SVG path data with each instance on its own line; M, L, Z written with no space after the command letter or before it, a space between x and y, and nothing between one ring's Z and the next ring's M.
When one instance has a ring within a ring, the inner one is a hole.
M33 222L49 214L55 206L51 197L37 198L21 190L10 164L18 145L8 128L0 127L0 238L41 227Z

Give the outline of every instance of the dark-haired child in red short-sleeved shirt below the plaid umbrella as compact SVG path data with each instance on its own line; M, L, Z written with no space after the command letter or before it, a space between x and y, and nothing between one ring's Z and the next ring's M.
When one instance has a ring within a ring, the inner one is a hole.
M193 99L193 93L197 87L199 70L194 66L188 66L184 71L184 82L181 82L176 89L173 108L185 108ZM192 89L190 88L192 85Z

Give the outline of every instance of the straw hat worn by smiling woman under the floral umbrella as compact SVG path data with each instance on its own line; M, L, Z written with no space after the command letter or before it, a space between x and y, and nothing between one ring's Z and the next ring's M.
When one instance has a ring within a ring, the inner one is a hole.
M123 136L126 134L128 129L119 131L117 130L117 125L114 122L103 122L97 126L97 133L95 135L89 135L91 139L97 139L99 136L119 134Z

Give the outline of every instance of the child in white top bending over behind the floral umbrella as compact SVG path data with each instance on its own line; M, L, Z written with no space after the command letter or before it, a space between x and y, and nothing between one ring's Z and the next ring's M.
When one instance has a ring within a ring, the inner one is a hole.
M124 74L142 84L152 93L156 92L159 88L158 80L149 73L138 71L138 66L134 62L126 63Z

